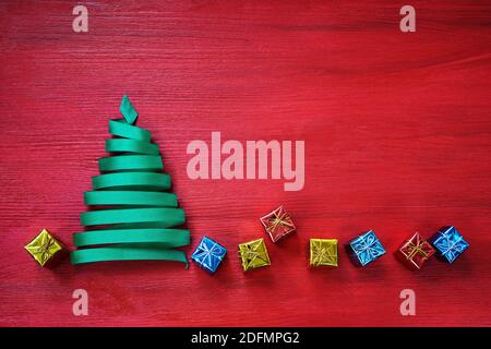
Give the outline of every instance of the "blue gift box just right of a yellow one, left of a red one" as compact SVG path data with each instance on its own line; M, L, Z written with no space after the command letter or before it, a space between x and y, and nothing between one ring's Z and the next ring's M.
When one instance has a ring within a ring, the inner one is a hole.
M373 230L367 231L352 240L349 248L351 260L361 266L366 266L385 254L385 249Z

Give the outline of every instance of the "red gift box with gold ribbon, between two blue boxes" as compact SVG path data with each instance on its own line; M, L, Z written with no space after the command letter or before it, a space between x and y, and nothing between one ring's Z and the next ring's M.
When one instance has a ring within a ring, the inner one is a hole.
M416 232L397 250L396 256L409 268L421 269L434 253L431 244Z

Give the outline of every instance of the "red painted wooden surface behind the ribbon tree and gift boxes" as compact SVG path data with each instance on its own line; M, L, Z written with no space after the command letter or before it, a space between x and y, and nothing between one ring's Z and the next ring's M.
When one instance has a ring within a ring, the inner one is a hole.
M0 3L0 325L491 325L491 4L411 1ZM128 93L187 212L229 250L215 276L161 262L40 269L23 245L48 228L72 248L108 119ZM192 140L304 140L306 186L191 181ZM298 233L267 241L273 265L244 274L237 244L265 237L284 203ZM453 265L366 269L342 252L309 269L308 239L374 229L392 253L415 230L455 225L471 248ZM89 315L72 315L84 288ZM402 316L411 288L417 315Z

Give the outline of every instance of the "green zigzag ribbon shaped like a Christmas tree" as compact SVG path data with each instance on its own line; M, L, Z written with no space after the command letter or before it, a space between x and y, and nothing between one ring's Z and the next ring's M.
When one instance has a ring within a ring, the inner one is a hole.
M147 130L133 125L137 112L127 96L120 111L123 119L109 120L112 139L106 141L108 157L99 159L100 176L94 190L84 194L93 209L81 215L86 231L73 234L79 250L72 264L104 261L167 260L185 263L183 251L190 243L183 225L184 210L178 208L169 174L163 173L158 146Z

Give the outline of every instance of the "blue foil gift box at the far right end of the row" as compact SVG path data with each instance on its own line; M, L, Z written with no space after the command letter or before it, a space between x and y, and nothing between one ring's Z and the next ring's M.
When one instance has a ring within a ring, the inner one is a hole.
M455 227L443 227L428 240L445 262L453 263L469 248Z

